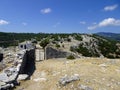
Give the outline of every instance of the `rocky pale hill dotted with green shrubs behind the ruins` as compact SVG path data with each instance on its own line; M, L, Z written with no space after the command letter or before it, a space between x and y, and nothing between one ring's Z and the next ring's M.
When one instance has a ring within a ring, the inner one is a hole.
M59 50L71 51L80 57L120 58L120 43L96 34L53 34L42 42L50 40L50 46Z

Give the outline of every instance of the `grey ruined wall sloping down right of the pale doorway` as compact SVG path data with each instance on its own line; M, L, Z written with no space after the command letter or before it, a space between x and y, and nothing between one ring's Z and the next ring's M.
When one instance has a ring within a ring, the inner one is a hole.
M70 53L54 49L52 47L46 47L45 49L45 56L46 59L52 59L52 58L66 58L70 55Z

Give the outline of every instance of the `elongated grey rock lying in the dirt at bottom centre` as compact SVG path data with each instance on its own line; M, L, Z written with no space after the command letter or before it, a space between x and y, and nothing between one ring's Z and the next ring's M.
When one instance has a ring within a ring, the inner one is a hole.
M65 75L64 77L60 78L59 84L65 86L66 84L72 81L77 81L77 80L80 80L80 77L78 74L74 74L73 76Z

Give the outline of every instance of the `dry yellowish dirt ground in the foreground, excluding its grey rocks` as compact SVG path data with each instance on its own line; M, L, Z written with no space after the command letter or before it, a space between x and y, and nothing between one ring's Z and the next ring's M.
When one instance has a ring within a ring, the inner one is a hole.
M61 77L74 74L79 74L79 81L59 85ZM36 62L30 80L22 81L15 90L80 90L77 88L80 84L94 90L120 90L120 60L83 58Z

